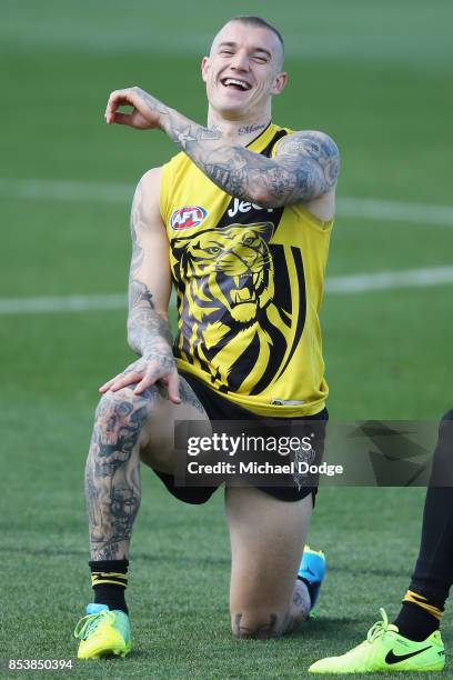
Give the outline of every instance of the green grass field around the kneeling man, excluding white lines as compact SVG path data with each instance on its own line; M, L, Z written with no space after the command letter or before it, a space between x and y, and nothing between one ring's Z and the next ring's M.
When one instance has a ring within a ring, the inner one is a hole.
M203 121L199 59L234 13L261 13L288 37L292 82L275 122L336 139L340 197L452 206L446 0L234 0L226 10L205 0L3 0L3 300L124 292L129 206L112 183L132 192L174 149L161 133L104 126L107 96L141 84ZM57 181L72 182L72 194ZM329 277L451 267L453 220L436 214L417 222L397 211L386 219L340 212ZM331 417L436 420L451 408L451 299L447 282L328 294ZM124 321L123 309L0 314L0 658L76 657L72 628L91 593L84 457L97 388L131 358ZM221 492L204 508L185 507L145 471L128 591L134 652L127 661L74 660L70 677L303 676L320 656L363 638L380 606L396 613L423 494L324 489L311 532L330 563L318 619L291 639L238 642L229 632ZM449 652L449 617L443 636Z

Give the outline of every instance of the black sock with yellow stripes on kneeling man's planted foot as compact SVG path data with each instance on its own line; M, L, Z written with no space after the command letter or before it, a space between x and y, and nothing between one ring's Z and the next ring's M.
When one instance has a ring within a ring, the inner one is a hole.
M95 604L107 604L110 610L129 613L124 599L128 586L128 560L90 561L91 583Z

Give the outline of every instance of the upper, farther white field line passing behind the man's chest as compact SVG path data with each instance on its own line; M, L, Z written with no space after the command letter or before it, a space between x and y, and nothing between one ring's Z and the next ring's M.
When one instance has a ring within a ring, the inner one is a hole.
M124 182L0 178L2 198L127 203L132 194L133 186ZM453 227L453 206L340 197L336 207L339 217Z

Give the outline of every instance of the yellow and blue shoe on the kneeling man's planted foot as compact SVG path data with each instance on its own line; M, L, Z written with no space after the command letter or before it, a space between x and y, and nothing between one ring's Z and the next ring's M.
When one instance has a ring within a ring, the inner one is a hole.
M76 626L80 640L79 659L124 657L131 651L131 627L123 611L110 611L107 604L88 604L87 616Z

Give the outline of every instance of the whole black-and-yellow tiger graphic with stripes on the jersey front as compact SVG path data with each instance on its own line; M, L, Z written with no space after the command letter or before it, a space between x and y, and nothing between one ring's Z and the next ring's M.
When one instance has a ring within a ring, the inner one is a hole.
M274 229L272 222L235 223L171 242L179 300L174 356L224 393L265 390L285 370L303 330L301 253L271 243Z

